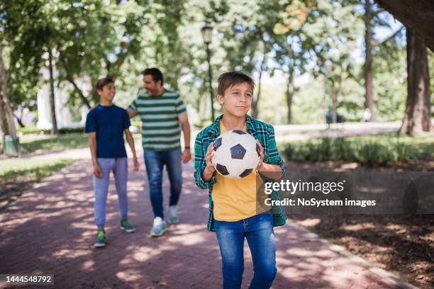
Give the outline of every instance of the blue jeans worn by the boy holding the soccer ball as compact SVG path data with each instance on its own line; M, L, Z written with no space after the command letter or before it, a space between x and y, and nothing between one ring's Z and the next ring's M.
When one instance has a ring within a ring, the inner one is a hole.
M237 222L216 220L215 227L221 253L223 288L241 288L244 238L253 261L253 279L249 288L270 288L277 273L272 215L265 212Z

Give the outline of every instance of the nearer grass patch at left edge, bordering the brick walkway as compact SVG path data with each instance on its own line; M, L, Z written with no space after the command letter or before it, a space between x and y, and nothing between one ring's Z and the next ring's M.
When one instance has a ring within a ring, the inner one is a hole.
M43 159L42 157L1 159L0 179L1 181L11 181L25 178L39 181L45 176L49 176L53 171L62 169L73 162L73 159Z

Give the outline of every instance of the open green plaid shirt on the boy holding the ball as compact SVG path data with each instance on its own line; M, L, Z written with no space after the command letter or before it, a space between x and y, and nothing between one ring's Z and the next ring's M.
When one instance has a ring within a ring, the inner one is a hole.
M206 162L205 154L208 145L216 140L220 135L220 120L223 115L218 116L216 120L208 127L201 130L196 136L194 142L194 180L199 188L208 189L208 223L206 228L208 231L215 231L214 229L214 215L213 215L213 199L211 198L211 191L213 190L213 184L216 183L216 173L213 174L210 181L204 181L202 179L202 171L204 171ZM264 148L264 162L267 164L277 164L283 171L285 176L285 169L283 166L283 159L277 152L276 140L274 140L274 129L272 125L262 123L260 120L251 118L249 115L245 116L245 122L247 125L247 133L255 137ZM279 198L277 192L272 193L272 199ZM286 222L286 214L282 206L272 208L273 225L274 227L282 226Z

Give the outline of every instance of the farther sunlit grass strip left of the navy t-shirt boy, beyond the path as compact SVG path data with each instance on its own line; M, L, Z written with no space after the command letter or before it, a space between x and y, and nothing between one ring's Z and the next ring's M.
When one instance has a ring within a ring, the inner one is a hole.
M81 149L88 146L87 140L88 136L84 133L42 138L28 135L20 140L21 152L60 152L65 149Z

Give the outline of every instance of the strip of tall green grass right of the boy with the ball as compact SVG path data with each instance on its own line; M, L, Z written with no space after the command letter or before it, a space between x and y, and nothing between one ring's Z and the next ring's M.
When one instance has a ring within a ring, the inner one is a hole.
M401 136L395 132L356 137L322 138L283 145L286 161L359 162L366 166L434 158L434 134Z

